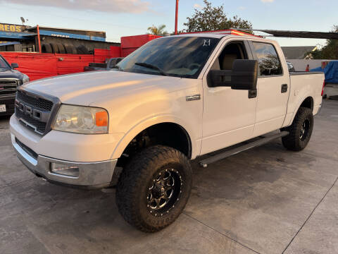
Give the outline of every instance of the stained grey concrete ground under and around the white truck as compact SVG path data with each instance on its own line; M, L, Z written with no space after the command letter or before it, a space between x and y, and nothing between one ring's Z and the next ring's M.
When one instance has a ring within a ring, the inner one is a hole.
M118 214L115 191L38 179L0 119L0 253L338 253L338 102L303 152L280 140L201 169L183 214L156 234Z

